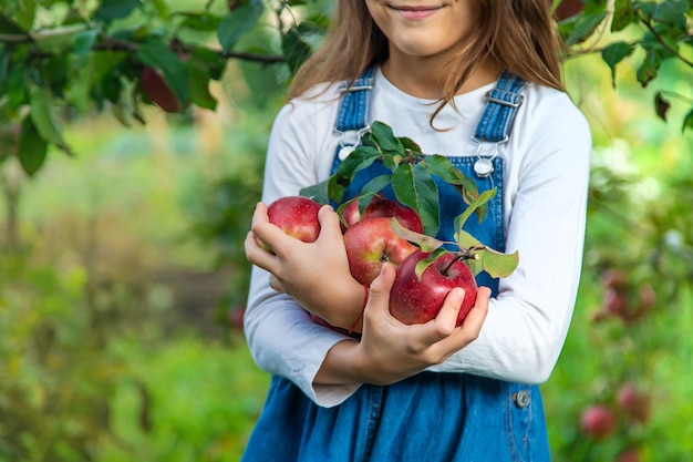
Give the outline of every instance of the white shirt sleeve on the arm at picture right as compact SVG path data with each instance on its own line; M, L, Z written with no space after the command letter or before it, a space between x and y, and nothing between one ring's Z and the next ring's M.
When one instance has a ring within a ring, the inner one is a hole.
M558 360L580 279L591 154L587 121L561 95L514 129L527 155L510 179L506 250L519 251L519 265L499 281L479 338L431 370L541 383Z

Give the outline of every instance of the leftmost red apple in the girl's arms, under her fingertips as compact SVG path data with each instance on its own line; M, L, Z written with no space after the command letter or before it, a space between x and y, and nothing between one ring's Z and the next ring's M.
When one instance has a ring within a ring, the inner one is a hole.
M314 243L320 235L318 212L322 207L316 201L303 196L286 196L272 202L267 207L269 223L278 226L289 236L304 243ZM258 245L268 251L271 248L260 239Z

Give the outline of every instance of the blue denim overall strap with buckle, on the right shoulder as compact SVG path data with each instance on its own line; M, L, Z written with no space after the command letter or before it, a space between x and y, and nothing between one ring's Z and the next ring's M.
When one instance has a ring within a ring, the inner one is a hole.
M486 109L476 126L474 140L478 143L508 141L517 109L525 100L519 92L525 83L519 76L503 72L496 88L486 92Z

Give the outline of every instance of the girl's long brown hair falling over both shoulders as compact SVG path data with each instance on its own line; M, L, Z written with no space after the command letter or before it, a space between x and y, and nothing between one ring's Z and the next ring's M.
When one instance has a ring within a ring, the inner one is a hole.
M550 1L479 0L478 3L478 27L469 35L469 47L449 63L442 103L453 100L474 64L483 59L528 82L563 90L560 41L550 14ZM299 69L288 96L298 96L318 83L353 81L370 65L385 61L387 54L387 39L373 22L365 1L337 0L324 43Z

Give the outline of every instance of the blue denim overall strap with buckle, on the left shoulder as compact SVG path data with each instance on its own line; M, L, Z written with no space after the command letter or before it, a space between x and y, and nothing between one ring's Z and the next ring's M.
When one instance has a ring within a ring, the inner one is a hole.
M368 116L375 69L375 66L369 68L355 81L344 82L340 86L342 101L334 123L334 131L341 134L340 144L342 146L359 145L361 135L370 129Z

